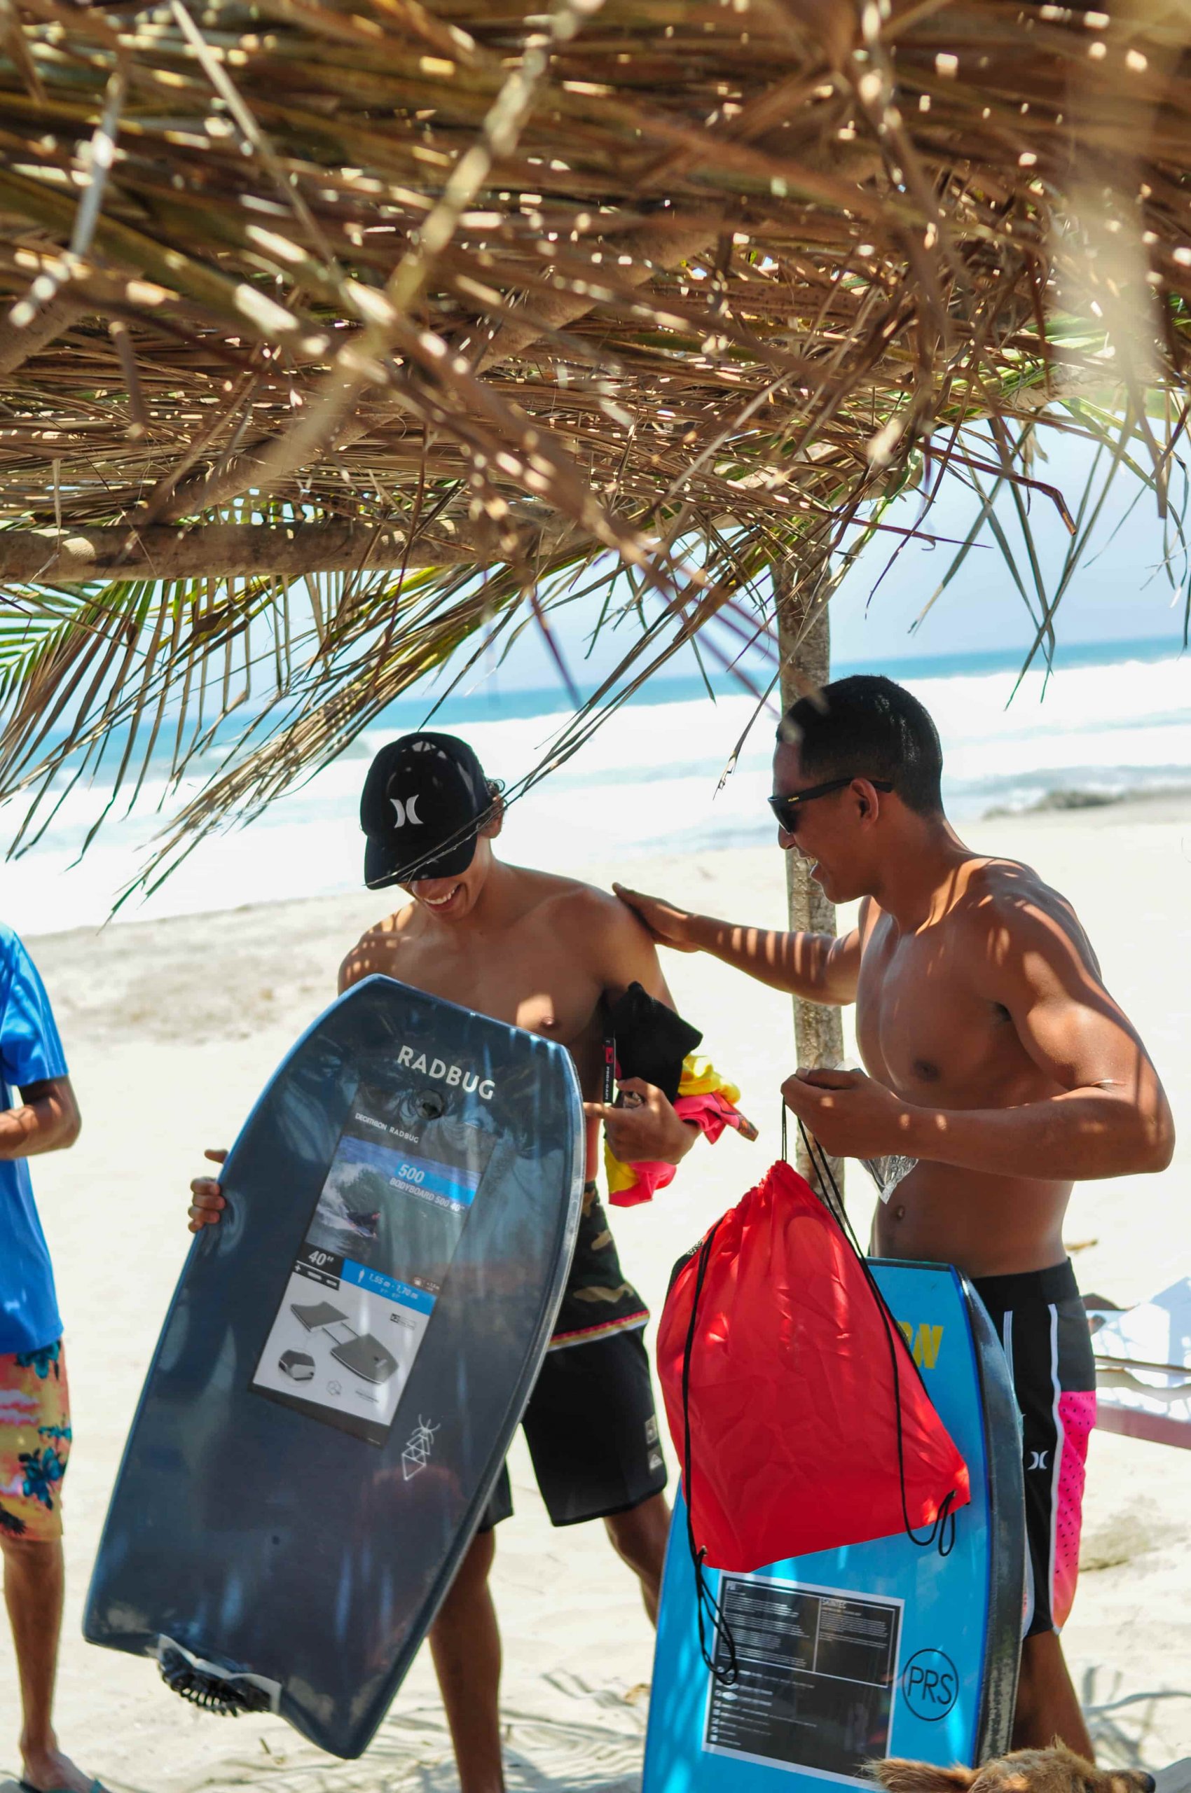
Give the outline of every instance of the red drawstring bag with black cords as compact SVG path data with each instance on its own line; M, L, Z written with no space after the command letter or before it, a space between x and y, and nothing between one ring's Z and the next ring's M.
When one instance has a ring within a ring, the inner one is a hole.
M922 1526L915 1542L949 1547L967 1465L872 1271L789 1164L678 1269L658 1373L696 1567L748 1572Z

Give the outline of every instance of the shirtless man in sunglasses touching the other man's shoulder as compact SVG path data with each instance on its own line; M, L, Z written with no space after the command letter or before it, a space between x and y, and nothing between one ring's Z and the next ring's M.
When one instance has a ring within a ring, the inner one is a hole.
M771 809L857 925L782 934L621 889L653 938L775 990L856 1002L868 1076L798 1070L786 1104L823 1151L902 1158L881 1257L956 1264L1004 1343L1024 1418L1028 1587L1013 1746L1091 1755L1058 1642L1074 1594L1096 1375L1062 1226L1073 1182L1162 1171L1169 1106L1105 990L1069 902L1030 866L974 853L947 821L942 748L886 678L847 678L778 730Z

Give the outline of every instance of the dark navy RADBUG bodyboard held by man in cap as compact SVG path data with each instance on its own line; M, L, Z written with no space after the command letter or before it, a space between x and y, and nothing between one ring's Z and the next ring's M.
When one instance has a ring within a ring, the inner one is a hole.
M583 1200L549 1040L355 984L262 1094L111 1495L95 1644L359 1755L481 1519Z

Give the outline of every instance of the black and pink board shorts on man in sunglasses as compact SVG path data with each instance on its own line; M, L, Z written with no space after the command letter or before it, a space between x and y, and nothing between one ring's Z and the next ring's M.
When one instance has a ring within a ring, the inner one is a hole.
M974 1277L1008 1357L1022 1418L1026 1605L1022 1637L1060 1632L1080 1565L1096 1359L1071 1259L1013 1277Z

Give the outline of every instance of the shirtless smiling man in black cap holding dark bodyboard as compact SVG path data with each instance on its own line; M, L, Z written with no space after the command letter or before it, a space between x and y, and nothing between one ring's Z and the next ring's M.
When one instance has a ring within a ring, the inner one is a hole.
M364 882L413 898L373 927L339 970L339 990L384 972L570 1049L587 1096L603 1074L601 999L640 983L669 1002L646 929L615 896L495 859L499 785L452 735L405 735L373 760L361 800ZM524 1416L538 1486L556 1526L603 1519L640 1578L656 1621L669 1506L658 1449L648 1309L621 1273L596 1192L601 1121L622 1162L678 1164L696 1130L651 1085L621 1085L635 1108L585 1104L583 1217L551 1350ZM217 1162L224 1153L208 1153ZM192 1185L190 1230L219 1219L219 1183ZM500 1793L500 1635L488 1590L493 1528L513 1511L508 1470L430 1628L430 1651L463 1793Z

